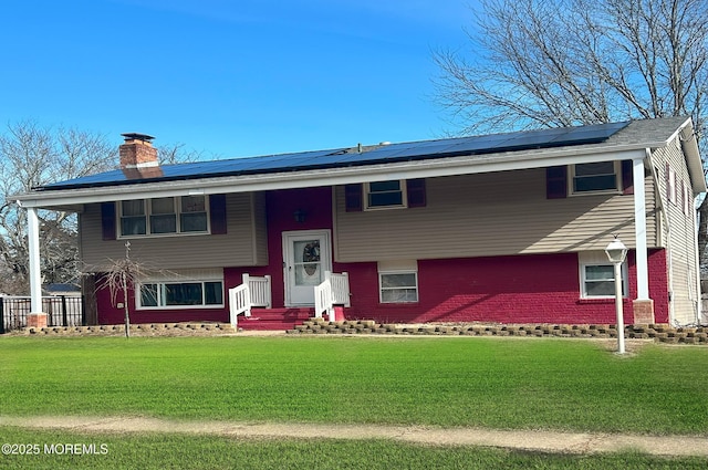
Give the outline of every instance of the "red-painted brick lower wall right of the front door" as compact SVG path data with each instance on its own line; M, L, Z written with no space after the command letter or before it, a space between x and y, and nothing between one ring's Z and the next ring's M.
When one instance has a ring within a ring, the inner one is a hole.
M636 296L634 254L629 254L625 322ZM350 272L348 318L379 322L614 323L614 300L580 299L577 254L534 254L418 261L419 303L379 304L376 263L340 265ZM668 321L664 250L649 254L649 295L657 323Z

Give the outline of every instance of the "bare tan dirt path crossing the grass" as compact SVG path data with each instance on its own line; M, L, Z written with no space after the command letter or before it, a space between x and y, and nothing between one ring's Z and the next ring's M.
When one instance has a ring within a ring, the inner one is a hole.
M178 432L252 439L392 439L427 446L481 446L554 453L635 450L654 456L708 457L708 437L502 431L375 425L174 421L140 417L3 417L0 426L75 432Z

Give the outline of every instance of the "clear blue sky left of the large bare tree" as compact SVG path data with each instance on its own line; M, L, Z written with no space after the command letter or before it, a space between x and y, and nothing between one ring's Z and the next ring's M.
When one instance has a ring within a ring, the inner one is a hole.
M11 0L0 124L156 136L206 157L451 130L431 50L467 44L467 0Z

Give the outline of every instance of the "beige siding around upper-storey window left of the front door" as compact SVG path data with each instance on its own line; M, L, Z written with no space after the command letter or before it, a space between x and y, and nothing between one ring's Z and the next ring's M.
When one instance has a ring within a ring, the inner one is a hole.
M253 215L257 208L264 207L262 200L262 195L227 195L226 234L144 237L106 241L102 240L101 205L87 205L81 216L82 261L88 270L100 271L107 259L125 257L125 242L129 241L133 259L158 269L266 264L268 253L264 213Z

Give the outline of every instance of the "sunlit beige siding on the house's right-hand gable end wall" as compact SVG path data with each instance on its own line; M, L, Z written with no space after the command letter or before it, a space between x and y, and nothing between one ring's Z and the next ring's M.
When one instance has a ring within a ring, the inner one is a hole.
M657 173L659 192L666 210L667 222L663 223L663 237L668 248L669 289L671 291L670 318L675 323L686 325L697 321L698 307L698 268L696 263L696 216L694 196L690 186L686 159L680 143L675 140L668 147L655 150L652 161ZM675 186L689 188L690 210L684 210L680 196L675 202L669 201L666 188L666 164L674 170Z

